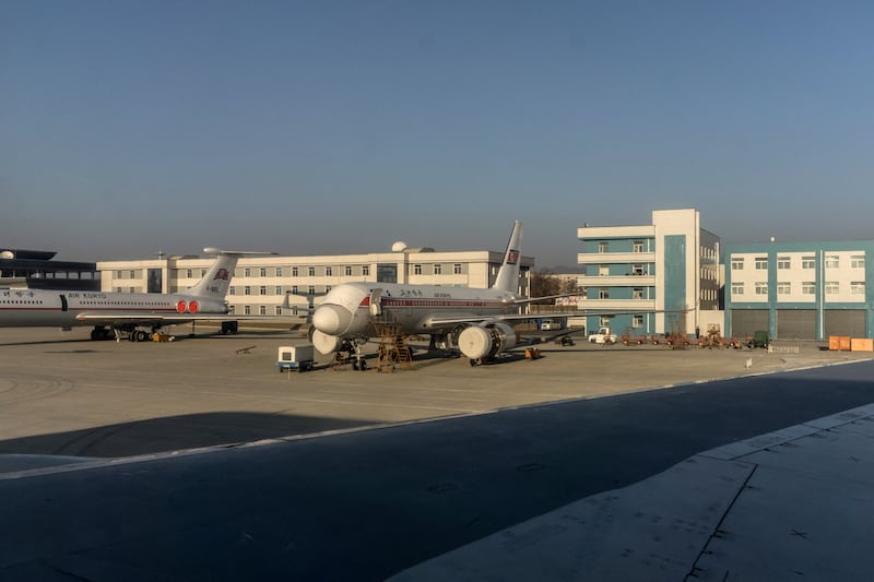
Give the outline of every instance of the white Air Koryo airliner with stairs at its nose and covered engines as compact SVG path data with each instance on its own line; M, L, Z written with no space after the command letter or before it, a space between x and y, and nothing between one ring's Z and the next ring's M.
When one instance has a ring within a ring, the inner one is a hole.
M347 283L331 289L312 313L312 345L322 354L354 351L355 368L365 369L361 346L376 335L371 316L385 317L402 334L428 334L432 345L459 348L471 365L482 363L516 346L511 320L525 299L519 294L519 259L522 223L516 221L504 253L504 263L488 289L403 285L397 283Z

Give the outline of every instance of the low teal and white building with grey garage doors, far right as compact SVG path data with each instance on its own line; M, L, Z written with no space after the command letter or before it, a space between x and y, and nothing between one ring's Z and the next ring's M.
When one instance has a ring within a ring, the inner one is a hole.
M872 337L874 240L724 246L728 334Z

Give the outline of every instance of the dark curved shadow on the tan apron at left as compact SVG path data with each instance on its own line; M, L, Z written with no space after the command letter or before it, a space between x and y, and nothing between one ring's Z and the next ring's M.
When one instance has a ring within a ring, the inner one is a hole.
M202 413L0 441L0 454L116 458L233 446L371 425L373 421L259 413Z

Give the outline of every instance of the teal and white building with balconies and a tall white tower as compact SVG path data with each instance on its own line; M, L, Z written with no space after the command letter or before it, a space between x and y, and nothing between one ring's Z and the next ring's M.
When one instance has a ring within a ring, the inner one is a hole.
M605 313L587 316L587 330L694 333L702 313L718 313L720 239L700 227L697 210L653 211L649 225L586 225L577 238L577 307Z

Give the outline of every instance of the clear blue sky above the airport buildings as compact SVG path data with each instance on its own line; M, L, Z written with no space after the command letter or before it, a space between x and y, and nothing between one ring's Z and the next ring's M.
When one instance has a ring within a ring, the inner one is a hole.
M0 246L874 238L874 3L0 2Z

